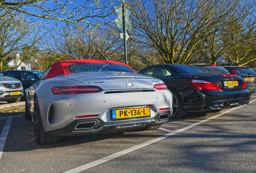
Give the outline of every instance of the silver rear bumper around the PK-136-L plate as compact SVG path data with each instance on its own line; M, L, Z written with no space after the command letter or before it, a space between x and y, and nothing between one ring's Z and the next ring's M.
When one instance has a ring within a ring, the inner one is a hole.
M136 123L145 121L141 127L127 127L127 129L138 129L151 125L163 123L159 121L159 115L165 112L168 116L172 113L172 94L169 90L159 90L152 92L134 92L134 93L112 93L105 94L106 91L90 94L72 94L72 95L48 95L38 97L39 112L42 117L43 129L47 133L63 136L84 135L90 133L103 133L104 131L119 131L116 125L126 123ZM118 119L113 120L112 109L134 109L150 107L150 117L138 117L136 119ZM169 108L160 111L159 109ZM50 115L50 116L49 116ZM97 115L95 118L77 118L87 115ZM168 117L169 118L169 117ZM153 120L151 122L151 120ZM96 121L92 129L86 129L79 132L74 127L79 122ZM148 122L149 121L149 122ZM154 123L155 122L155 123ZM126 127L122 127L124 131ZM74 132L76 131L76 132ZM109 132L108 132L109 133Z

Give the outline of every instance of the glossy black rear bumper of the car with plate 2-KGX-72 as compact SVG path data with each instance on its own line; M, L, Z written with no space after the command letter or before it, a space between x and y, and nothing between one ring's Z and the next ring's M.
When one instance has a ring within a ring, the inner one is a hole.
M250 102L250 91L200 91L202 99L198 103L184 104L185 112L215 111L231 107L238 107Z

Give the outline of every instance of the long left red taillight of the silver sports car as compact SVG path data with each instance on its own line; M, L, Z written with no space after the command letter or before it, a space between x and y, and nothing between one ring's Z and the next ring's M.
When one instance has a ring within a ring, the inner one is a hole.
M52 92L54 94L78 94L78 93L97 93L102 91L98 87L52 87Z

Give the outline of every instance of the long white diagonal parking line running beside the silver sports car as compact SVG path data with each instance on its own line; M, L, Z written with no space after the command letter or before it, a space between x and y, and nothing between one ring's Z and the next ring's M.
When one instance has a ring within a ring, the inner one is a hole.
M256 101L256 99L253 100L253 101L250 101L250 103L252 103L252 102L254 102L254 101ZM250 104L250 103L249 103L249 104ZM245 105L243 105L243 106L245 106ZM243 107L243 106L240 106L240 107ZM166 135L163 135L163 136L161 136L161 137L157 137L157 138L152 139L152 140L150 140L150 141L147 141L147 142L145 142L145 143L141 143L141 144L136 145L136 146L134 146L134 147L128 148L128 149L126 149L126 150L120 151L120 152L118 152L118 153L109 155L109 156L107 156L107 157L103 157L102 159L99 159L99 160L93 161L93 162L91 162L91 163L87 163L87 164L85 164L85 165L82 165L82 166L80 166L80 167L71 169L71 170L66 171L66 172L64 172L64 173L78 173L78 172L83 171L83 170L85 170L85 169L88 169L88 168L90 168L90 167L94 167L94 166L96 166L96 165L99 165L99 164L101 164L101 163L104 163L104 162L106 162L106 161L109 161L109 160L111 160L111 159L114 159L114 158L116 158L116 157L122 156L122 155L124 155L124 154L126 154L126 153L130 153L130 152L132 152L132 151L134 151L134 150L136 150L136 149L145 147L145 146L147 146L147 145L149 145L149 144L152 144L152 143L155 143L155 142L160 141L160 140L162 140L162 139L165 139L165 138L167 138L167 137L169 137L169 136L175 135L176 133L180 133L180 132L182 132L182 131L185 131L185 130L187 130L187 129L190 129L190 128L192 128L192 127L195 127L195 126L197 126L197 125L200 125L200 124L202 124L202 123L204 123L204 122L206 122L206 121L209 121L209 120L211 120L211 119L215 119L215 118L217 118L217 117L219 117L219 116L221 116L221 115L223 115L223 114L229 113L229 112L231 112L231 111L233 111L233 110L235 110L235 109L238 109L238 108L240 108L240 107L235 107L235 108L233 108L233 109L230 109L230 110L228 110L228 111L219 113L218 115L215 115L215 116L210 117L210 118L208 118L208 119L204 119L204 120L202 120L202 121L199 121L199 122L197 122L197 123L194 123L194 124L192 124L192 125L189 125L189 126L187 126L187 127L184 127L184 128L182 128L182 129L179 129L179 130L176 130L176 131L169 131L169 130L167 130L167 129L164 129L164 131L168 131L168 132L170 132L170 133L168 133L168 134L166 134ZM159 129L160 129L160 128L159 128ZM161 128L161 130L163 130L163 128Z

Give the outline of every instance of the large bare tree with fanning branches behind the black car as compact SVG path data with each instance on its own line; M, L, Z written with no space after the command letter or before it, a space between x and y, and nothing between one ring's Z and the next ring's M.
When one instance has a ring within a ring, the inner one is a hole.
M138 42L168 63L186 63L202 41L223 27L237 0L130 0Z

